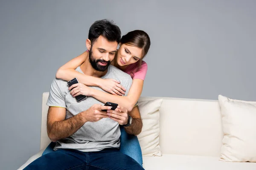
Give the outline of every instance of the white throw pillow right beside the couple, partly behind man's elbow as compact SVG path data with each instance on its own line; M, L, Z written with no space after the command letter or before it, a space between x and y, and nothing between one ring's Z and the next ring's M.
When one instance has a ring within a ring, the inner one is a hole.
M163 99L139 102L138 107L143 122L141 133L137 136L143 156L162 156L159 146L160 106Z

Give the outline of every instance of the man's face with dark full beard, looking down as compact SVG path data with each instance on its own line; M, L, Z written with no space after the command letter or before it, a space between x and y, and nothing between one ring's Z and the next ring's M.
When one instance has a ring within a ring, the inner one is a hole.
M105 37L93 42L89 51L89 59L92 67L96 71L106 71L111 61L115 57L117 42L109 42Z

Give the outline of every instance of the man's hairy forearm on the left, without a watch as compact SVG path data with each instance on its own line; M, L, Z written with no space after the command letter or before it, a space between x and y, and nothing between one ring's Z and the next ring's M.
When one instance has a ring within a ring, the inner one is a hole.
M84 123L81 113L69 119L54 122L51 125L47 125L48 136L52 142L56 142L59 139L73 135Z

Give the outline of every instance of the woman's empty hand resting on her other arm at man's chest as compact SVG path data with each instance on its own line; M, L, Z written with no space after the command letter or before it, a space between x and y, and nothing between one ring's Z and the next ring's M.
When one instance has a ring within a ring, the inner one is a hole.
M107 91L110 94L122 96L125 94L126 89L120 85L119 81L115 79L102 79L100 88Z

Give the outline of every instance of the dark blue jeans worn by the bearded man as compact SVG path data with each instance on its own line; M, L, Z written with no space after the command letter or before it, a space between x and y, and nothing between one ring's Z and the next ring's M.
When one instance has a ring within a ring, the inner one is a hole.
M137 161L108 148L98 152L59 149L39 157L24 170L144 170Z

